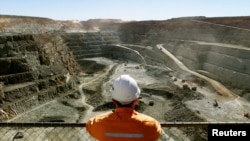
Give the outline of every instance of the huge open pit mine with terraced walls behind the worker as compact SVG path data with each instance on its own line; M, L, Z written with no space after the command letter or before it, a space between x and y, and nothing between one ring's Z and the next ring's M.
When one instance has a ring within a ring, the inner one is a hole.
M142 91L136 110L161 123L250 122L249 21L1 15L0 121L85 123L114 109L112 82L129 74ZM173 140L207 140L203 128L164 130ZM6 134L1 128L4 139L15 135Z

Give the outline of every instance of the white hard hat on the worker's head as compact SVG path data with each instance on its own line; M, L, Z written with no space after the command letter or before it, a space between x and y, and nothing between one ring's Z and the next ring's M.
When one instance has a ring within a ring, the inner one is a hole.
M121 104L129 104L140 96L137 82L129 75L121 75L115 79L111 88L111 96Z

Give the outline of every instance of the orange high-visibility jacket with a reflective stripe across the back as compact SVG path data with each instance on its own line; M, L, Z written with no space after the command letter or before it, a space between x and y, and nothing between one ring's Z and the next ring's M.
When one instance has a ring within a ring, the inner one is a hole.
M157 120L132 108L116 108L91 118L86 130L99 141L156 141L162 132Z

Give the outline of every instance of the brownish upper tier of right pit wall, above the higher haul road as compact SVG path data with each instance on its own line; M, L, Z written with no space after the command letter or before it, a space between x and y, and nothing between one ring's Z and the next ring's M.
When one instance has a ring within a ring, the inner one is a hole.
M198 40L250 47L250 30L203 22L172 19L123 23L117 30L122 43L155 45L169 39Z

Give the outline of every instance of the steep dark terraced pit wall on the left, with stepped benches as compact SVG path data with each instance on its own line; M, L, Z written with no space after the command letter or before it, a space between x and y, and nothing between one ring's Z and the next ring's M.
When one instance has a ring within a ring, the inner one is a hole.
M119 42L113 32L1 35L0 121L78 94L80 69L86 73L98 69L98 64L88 69L91 65L84 59L107 57L143 63L137 52L117 46Z

